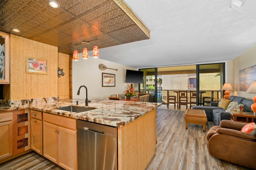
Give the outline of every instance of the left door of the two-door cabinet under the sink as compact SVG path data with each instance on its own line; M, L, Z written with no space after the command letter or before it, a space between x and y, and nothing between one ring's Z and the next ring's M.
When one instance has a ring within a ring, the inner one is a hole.
M58 126L43 122L43 156L58 164Z

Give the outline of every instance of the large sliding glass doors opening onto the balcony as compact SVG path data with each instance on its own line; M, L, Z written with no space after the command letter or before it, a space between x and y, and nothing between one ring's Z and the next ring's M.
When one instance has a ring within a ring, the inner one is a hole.
M196 101L193 102L209 105L221 96L224 66L224 63L216 63L140 69L144 72L144 82L139 90L140 93L151 94L155 102L163 104L167 103L167 94L176 96L178 103L178 92L185 90L188 92L188 105L192 100L190 92L196 91Z

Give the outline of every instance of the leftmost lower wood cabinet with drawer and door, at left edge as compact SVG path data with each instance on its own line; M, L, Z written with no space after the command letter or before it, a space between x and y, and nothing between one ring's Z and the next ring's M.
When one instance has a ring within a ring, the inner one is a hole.
M12 155L12 112L0 114L0 160Z

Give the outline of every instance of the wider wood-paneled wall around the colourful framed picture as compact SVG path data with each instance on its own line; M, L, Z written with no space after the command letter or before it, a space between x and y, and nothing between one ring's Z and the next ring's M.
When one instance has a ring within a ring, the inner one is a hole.
M10 99L58 96L58 47L10 36ZM47 75L26 73L26 57L48 61Z

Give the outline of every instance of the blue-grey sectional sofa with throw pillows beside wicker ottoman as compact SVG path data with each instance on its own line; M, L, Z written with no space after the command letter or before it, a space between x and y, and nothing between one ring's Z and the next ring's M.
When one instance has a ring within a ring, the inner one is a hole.
M252 100L239 96L230 96L229 99L238 102L238 104L244 104L244 111L253 112L251 105L254 104L254 102ZM220 125L221 120L230 119L230 113L226 112L226 109L218 107L218 102L211 102L210 106L193 106L193 109L203 109L208 121L213 121L216 126Z

